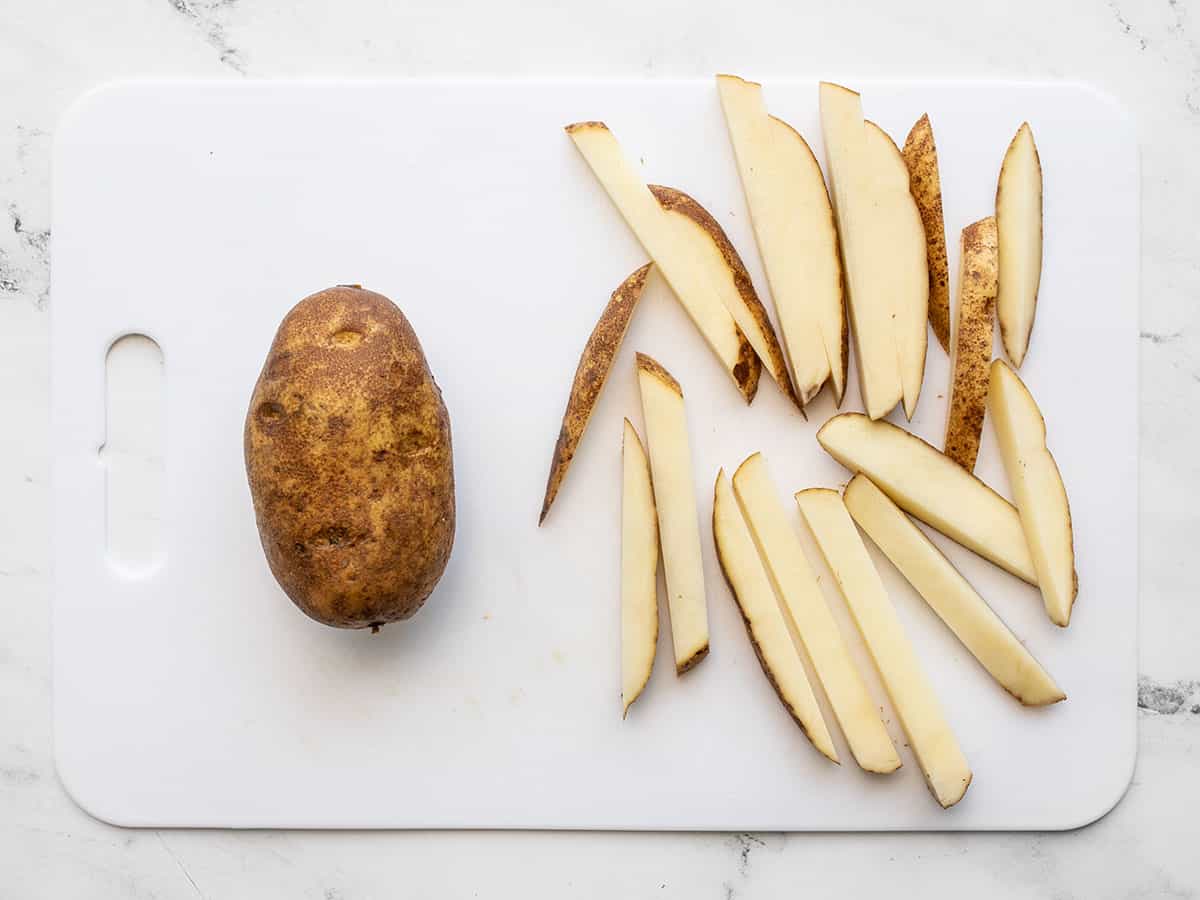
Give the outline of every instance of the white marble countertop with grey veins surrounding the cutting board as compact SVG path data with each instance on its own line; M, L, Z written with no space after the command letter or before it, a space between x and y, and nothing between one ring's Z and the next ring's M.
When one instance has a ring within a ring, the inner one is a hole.
M1078 832L977 835L121 830L77 809L54 774L49 676L50 145L64 108L119 77L714 71L1084 80L1135 116L1141 406L1114 410L1141 431L1140 755L1124 800ZM1200 894L1200 6L7 2L0 84L0 896Z

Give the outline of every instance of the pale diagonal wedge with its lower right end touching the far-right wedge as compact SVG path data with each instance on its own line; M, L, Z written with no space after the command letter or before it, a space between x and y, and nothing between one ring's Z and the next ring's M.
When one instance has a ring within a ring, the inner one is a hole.
M862 413L842 413L821 427L817 442L905 512L1018 578L1038 583L1016 508L916 434Z

